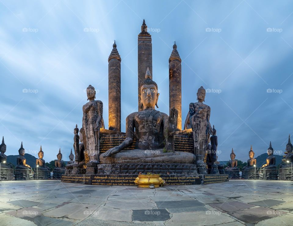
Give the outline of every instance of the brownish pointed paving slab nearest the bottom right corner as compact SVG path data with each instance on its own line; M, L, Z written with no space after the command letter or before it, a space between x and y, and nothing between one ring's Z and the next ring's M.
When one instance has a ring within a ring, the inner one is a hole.
M265 208L265 207L256 207L247 210L239 210L235 212L230 212L231 216L245 222L245 223L255 223L258 221L263 221L271 217L276 217L278 213L274 212L275 210ZM282 213L285 214L285 213Z

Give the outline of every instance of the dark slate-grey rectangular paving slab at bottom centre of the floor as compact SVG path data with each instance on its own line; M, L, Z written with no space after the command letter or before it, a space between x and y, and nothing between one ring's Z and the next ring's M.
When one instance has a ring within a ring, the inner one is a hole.
M165 209L132 211L133 221L166 221L170 219L170 213Z

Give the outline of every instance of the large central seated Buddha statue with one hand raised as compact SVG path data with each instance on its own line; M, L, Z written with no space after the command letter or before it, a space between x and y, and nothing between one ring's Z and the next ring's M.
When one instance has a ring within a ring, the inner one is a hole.
M100 155L100 163L185 163L193 164L195 155L174 151L173 132L177 128L178 112L171 109L170 116L155 110L158 87L151 79L149 69L146 79L139 85L139 100L143 110L133 112L126 118L126 139L118 146ZM158 106L157 106L158 108ZM125 150L133 143L135 149Z

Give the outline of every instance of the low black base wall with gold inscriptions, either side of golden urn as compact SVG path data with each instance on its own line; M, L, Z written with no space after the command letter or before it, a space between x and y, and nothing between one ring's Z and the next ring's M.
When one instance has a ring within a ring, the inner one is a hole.
M134 180L137 174L79 174L62 175L61 181L67 183L79 183L87 185L135 185ZM228 175L209 174L209 175L167 175L160 177L165 181L165 185L196 185L226 182Z

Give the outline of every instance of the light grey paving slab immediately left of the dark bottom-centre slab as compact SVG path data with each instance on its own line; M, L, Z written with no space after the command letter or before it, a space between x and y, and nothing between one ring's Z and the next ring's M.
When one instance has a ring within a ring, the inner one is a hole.
M132 221L132 210L119 210L110 207L99 207L92 217L103 220Z

